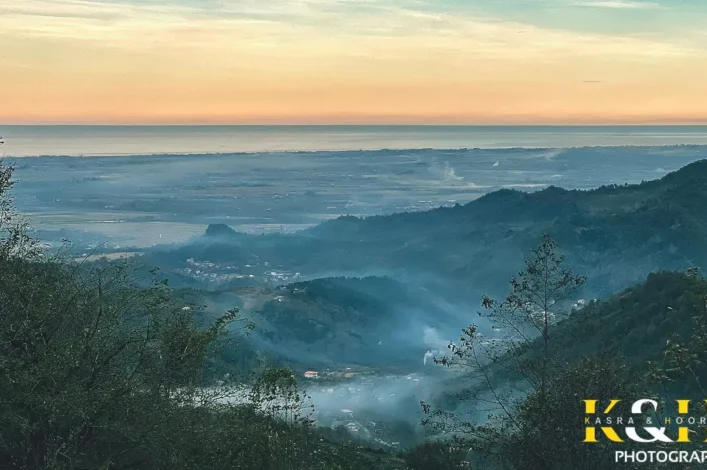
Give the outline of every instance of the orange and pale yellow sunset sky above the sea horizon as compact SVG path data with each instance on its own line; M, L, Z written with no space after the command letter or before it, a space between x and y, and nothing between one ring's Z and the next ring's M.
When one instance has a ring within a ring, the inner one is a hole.
M707 123L705 24L704 0L0 0L0 123Z

